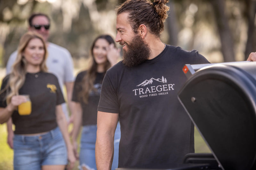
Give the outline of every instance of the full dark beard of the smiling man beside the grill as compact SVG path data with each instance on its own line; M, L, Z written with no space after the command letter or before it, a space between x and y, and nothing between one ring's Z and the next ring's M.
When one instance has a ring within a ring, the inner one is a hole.
M139 35L132 38L127 51L123 50L123 63L127 67L133 67L146 61L150 56L151 50Z

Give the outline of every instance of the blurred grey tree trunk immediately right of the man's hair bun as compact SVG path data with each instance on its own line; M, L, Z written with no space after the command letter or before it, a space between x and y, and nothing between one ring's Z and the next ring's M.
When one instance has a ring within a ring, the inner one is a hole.
M168 3L170 7L170 11L167 18L167 28L169 33L169 42L168 44L177 46L178 44L178 28L177 28L177 20L176 13L174 10L174 4L172 0Z

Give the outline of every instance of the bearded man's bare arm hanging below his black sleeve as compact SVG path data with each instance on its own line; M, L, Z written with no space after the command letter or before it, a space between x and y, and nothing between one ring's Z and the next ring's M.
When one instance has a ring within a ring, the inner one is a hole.
M96 166L99 170L110 170L114 155L114 135L118 122L116 113L98 111L97 138L95 145Z

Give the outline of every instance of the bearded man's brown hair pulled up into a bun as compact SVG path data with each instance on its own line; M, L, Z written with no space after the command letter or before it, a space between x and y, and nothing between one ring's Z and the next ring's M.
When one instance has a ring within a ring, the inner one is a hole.
M128 12L128 20L134 33L140 24L145 24L149 32L160 37L164 31L164 22L168 17L169 6L166 5L169 0L155 0L153 3L149 0L127 0L116 8L117 15Z

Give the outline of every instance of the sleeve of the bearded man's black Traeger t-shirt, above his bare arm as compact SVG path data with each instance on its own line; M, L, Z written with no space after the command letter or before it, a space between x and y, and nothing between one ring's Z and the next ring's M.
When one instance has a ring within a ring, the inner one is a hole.
M117 96L117 87L114 79L110 78L108 71L103 79L98 111L108 113L119 113L119 102Z

